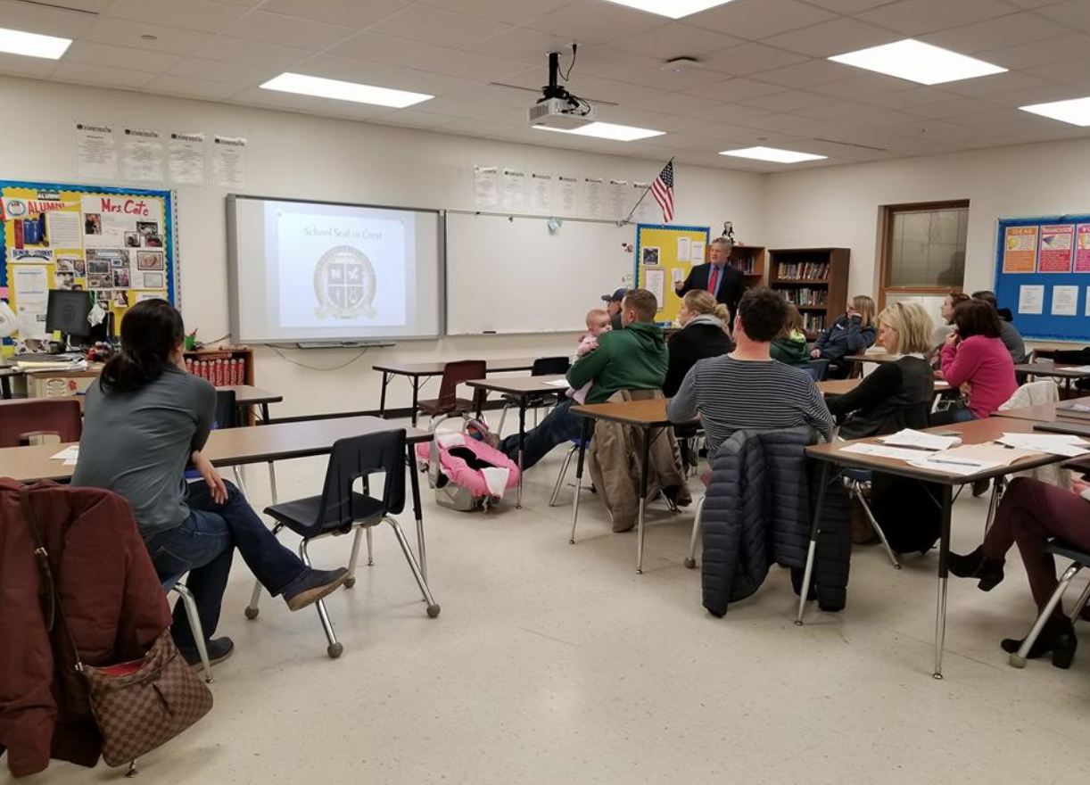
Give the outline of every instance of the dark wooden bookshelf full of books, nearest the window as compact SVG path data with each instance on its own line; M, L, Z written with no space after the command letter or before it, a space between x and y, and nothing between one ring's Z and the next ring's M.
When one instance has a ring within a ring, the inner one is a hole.
M815 339L848 307L849 249L768 251L768 286L795 303Z

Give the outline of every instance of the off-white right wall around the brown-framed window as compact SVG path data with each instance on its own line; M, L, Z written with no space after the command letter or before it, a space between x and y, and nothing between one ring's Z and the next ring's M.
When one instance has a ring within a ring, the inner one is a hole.
M849 295L876 294L881 206L969 200L965 287L991 289L996 221L1090 212L1088 157L1090 140L1074 140L772 174L765 237L771 247L851 249Z

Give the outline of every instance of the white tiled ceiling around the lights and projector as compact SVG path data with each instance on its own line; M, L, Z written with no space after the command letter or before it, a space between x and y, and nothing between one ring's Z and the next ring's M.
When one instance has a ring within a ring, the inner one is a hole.
M1090 0L735 0L680 22L604 0L0 0L0 26L75 40L60 61L0 55L0 73L726 169L783 170L716 155L751 145L828 156L802 168L1090 135L1017 109L1090 96ZM922 87L825 60L906 36L1009 72ZM598 119L665 135L526 126L516 87L540 88L573 40L568 86ZM685 56L702 68L662 70ZM282 71L436 98L257 88Z

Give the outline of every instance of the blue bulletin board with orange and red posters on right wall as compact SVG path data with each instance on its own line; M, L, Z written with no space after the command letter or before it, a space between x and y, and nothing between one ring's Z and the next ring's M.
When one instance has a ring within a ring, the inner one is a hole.
M995 297L1026 338L1090 341L1090 215L1001 218Z

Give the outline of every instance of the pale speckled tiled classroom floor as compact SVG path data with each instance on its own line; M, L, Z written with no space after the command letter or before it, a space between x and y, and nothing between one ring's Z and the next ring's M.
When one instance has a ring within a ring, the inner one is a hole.
M237 561L213 713L142 761L137 782L229 783L1031 783L1090 778L1090 625L1070 671L1006 663L998 641L1033 615L1013 554L990 594L950 583L946 679L931 677L935 556L894 570L852 559L848 607L792 624L774 570L723 619L681 566L691 516L656 507L645 573L634 533L613 534L589 494L568 544L570 492L547 507L562 451L528 475L525 506L437 508L425 486L429 619L391 533L373 567L329 601L344 654L330 661L313 611L268 601L247 621ZM324 461L282 464L281 498L311 495ZM263 470L251 471L261 504ZM977 544L983 500L955 514ZM411 515L403 516L411 529ZM410 535L412 539L412 535ZM349 542L312 548L332 567ZM1079 583L1081 588L1081 582ZM0 781L7 782L7 774ZM28 783L120 777L55 764Z

